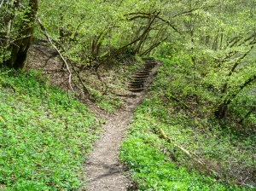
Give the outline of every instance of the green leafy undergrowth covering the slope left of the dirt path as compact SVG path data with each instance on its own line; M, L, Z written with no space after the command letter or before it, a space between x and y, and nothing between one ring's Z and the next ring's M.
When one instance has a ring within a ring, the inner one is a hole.
M88 107L37 72L0 68L3 190L78 190L99 130Z

